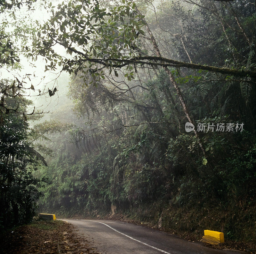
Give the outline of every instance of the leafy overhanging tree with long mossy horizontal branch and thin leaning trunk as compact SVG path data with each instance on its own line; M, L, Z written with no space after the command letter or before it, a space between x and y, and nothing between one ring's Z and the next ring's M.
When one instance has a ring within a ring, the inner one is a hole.
M37 35L41 37L41 40L37 38L34 44L39 49L38 53L47 61L51 61L46 65L46 70L48 68L55 70L56 64L59 64L63 66L63 70L69 73L77 74L79 72L79 75L82 74L84 82L90 75L91 82L96 85L100 79L105 79L104 68L107 68L109 73L114 70L118 77L117 70L126 67L125 77L131 80L134 78L134 71L136 72L140 66L161 66L168 73L171 84L176 89L188 121L194 125L193 117L169 67L187 67L226 75L256 77L254 71L244 68L213 67L162 57L145 16L140 13L133 2L124 2L124 4L117 4L108 9L100 7L99 3L93 4L90 1L59 4L56 7L57 10L55 10L55 6L50 7L52 8L52 18L40 27L41 33ZM141 38L146 36L143 31L144 27L153 43L156 56L143 54L139 49ZM63 46L70 54L70 58L62 57L54 52L52 47L55 44ZM134 67L134 70L130 67ZM205 156L202 141L200 141L196 130L194 132Z

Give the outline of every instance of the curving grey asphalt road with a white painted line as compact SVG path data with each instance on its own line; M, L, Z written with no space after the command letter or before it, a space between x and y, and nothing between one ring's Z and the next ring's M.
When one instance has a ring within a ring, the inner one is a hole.
M63 220L73 224L78 229L78 234L83 235L92 243L92 247L104 254L241 253L240 251L208 248L202 243L188 242L163 231L121 221Z

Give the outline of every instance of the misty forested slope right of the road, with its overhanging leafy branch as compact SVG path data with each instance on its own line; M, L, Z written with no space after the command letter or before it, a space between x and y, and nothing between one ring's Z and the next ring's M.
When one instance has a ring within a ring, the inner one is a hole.
M35 176L51 182L40 210L94 216L116 205L170 230L255 241L241 233L256 229L254 1L48 8L28 57L61 66L70 82L68 99L64 81L52 116L33 126L48 162Z

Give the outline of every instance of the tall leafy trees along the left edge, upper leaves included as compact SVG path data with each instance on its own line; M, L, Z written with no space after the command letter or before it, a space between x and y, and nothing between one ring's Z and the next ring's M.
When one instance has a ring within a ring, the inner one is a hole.
M0 4L0 72L9 78L0 80L0 227L9 228L29 222L36 213L39 187L46 179L37 179L34 172L46 162L29 140L29 120L40 118L42 112L28 112L32 101L28 91L35 91L31 74L13 74L21 71L21 55L29 57L28 36L32 24L26 24L20 9L33 10L34 0L1 1ZM11 29L10 29L11 28ZM38 89L39 90L39 89ZM48 93L48 91L47 91ZM39 91L40 94L40 91Z

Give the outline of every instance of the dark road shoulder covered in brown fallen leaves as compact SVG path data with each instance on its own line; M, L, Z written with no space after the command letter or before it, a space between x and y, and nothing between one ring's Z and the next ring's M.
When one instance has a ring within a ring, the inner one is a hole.
M70 223L35 221L1 236L1 253L97 253Z

